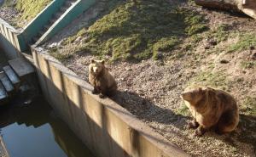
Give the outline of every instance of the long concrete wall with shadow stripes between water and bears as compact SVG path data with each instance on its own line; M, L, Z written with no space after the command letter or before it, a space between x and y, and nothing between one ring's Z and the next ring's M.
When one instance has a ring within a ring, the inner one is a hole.
M183 157L181 149L153 132L42 49L32 48L44 97L98 157Z

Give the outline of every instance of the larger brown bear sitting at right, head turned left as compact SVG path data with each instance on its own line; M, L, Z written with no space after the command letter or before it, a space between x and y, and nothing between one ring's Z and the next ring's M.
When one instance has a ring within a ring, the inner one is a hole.
M239 110L235 98L229 93L211 87L197 87L182 93L181 97L193 115L188 127L196 129L195 135L203 135L209 128L225 133L235 130L239 122Z

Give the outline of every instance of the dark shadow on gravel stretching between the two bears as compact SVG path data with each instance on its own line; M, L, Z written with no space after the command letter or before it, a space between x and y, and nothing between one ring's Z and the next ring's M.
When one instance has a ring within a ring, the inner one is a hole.
M112 99L143 121L154 121L183 129L189 119L187 116L175 114L171 109L160 108L137 93L118 92Z

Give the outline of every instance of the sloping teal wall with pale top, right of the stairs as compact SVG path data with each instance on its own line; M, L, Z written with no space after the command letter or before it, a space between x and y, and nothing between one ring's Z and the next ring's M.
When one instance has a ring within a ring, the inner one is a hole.
M67 11L61 15L61 18L55 21L55 24L52 25L48 31L40 37L38 42L35 45L40 45L49 40L50 37L54 36L58 31L63 29L65 26L70 24L79 14L82 14L84 10L90 8L96 0L79 0L73 4Z

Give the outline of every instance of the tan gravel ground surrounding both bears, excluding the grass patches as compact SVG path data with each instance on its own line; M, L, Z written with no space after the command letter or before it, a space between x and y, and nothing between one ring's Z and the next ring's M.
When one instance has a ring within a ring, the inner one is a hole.
M234 30L255 32L255 20L214 10L195 9L207 14L206 18L209 20L211 29L219 24L229 24ZM97 12L92 10L91 13L95 14L90 15L95 17ZM44 48L60 45L63 37L73 34L81 26L88 25L90 18L86 14L83 14L84 18L80 16L79 20L67 26L66 30L61 31L46 43ZM73 25L76 28L67 33L67 29L73 28ZM178 112L183 104L180 93L188 86L191 79L205 70L224 71L229 81L233 82L230 93L234 95L238 104L241 104L248 95L256 95L255 68L248 70L240 68L241 60L248 59L256 53L255 50L237 54L222 53L223 48L236 40L236 38L230 38L226 42L220 42L206 49L209 41L203 39L194 48L192 55L185 53L180 58L171 56L162 61L148 59L140 63L120 61L108 64L119 86L119 93L113 97L113 100L192 156L256 156L255 116L241 115L240 125L230 134L220 136L214 132L207 132L203 137L195 137L193 130L185 128L190 117ZM209 51L218 50L219 53L209 53ZM180 53L180 51L182 50L177 49L172 53ZM200 58L196 59L196 56ZM88 64L93 57L89 53L76 53L62 63L88 81ZM228 63L221 64L222 59L228 60ZM212 66L213 69L210 68ZM236 82L237 78L242 78L242 81Z

